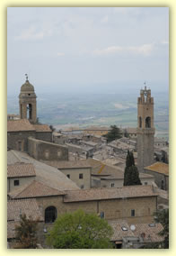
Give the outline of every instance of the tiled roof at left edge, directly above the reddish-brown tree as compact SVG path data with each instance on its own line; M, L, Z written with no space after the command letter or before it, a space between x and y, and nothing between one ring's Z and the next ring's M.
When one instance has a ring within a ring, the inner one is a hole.
M31 216L34 220L38 218L40 218L40 221L44 220L34 198L10 200L7 202L7 221L19 221L20 214L25 214L27 217Z

